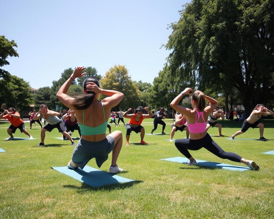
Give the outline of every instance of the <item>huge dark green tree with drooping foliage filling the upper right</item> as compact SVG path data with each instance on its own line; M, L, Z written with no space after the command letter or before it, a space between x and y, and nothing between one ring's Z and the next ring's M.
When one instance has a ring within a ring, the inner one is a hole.
M272 0L196 0L180 13L166 44L173 71L183 66L199 86L225 81L239 90L247 114L273 99Z

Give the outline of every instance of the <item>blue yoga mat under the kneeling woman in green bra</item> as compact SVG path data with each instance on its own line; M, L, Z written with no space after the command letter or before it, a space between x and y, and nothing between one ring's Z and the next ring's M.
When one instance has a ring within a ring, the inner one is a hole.
M51 168L93 187L134 181L133 179L126 179L89 166L85 166L84 169L78 168L76 170L68 169L67 166Z

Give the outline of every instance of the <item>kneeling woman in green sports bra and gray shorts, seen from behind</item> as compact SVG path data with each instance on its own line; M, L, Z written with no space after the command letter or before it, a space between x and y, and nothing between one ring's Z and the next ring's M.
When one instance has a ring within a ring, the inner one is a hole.
M82 134L68 163L68 168L83 169L92 158L95 158L97 166L101 167L112 151L109 172L120 173L123 169L118 167L116 161L122 148L122 132L114 131L106 137L106 127L111 108L121 102L124 94L116 90L101 89L96 78L87 77L83 82L83 94L67 95L72 81L86 74L82 73L84 69L84 67L75 68L56 94L65 106L75 112ZM98 101L98 94L108 97Z

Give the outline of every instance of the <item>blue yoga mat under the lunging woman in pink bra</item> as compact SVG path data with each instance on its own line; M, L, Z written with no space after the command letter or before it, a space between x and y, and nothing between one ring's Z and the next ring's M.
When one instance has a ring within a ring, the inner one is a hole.
M186 164L190 162L189 159L187 159L186 157L172 157L172 158L161 159L161 160L172 161L177 163L186 163ZM245 171L250 169L249 167L234 166L234 165L225 164L225 163L215 163L215 162L203 161L203 160L196 160L196 162L198 163L198 166L213 167L213 168L226 169L226 170Z

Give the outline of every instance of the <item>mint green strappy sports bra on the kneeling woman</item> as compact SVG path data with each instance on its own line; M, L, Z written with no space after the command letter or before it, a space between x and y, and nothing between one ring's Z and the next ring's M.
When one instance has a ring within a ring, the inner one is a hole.
M106 121L105 119L105 110L104 110L103 103L102 103L102 106L103 106L103 113L104 113L104 123L96 127L90 127L90 126L84 125L84 109L83 109L83 124L79 123L81 135L99 135L99 134L106 133L106 127L108 125L108 121Z

